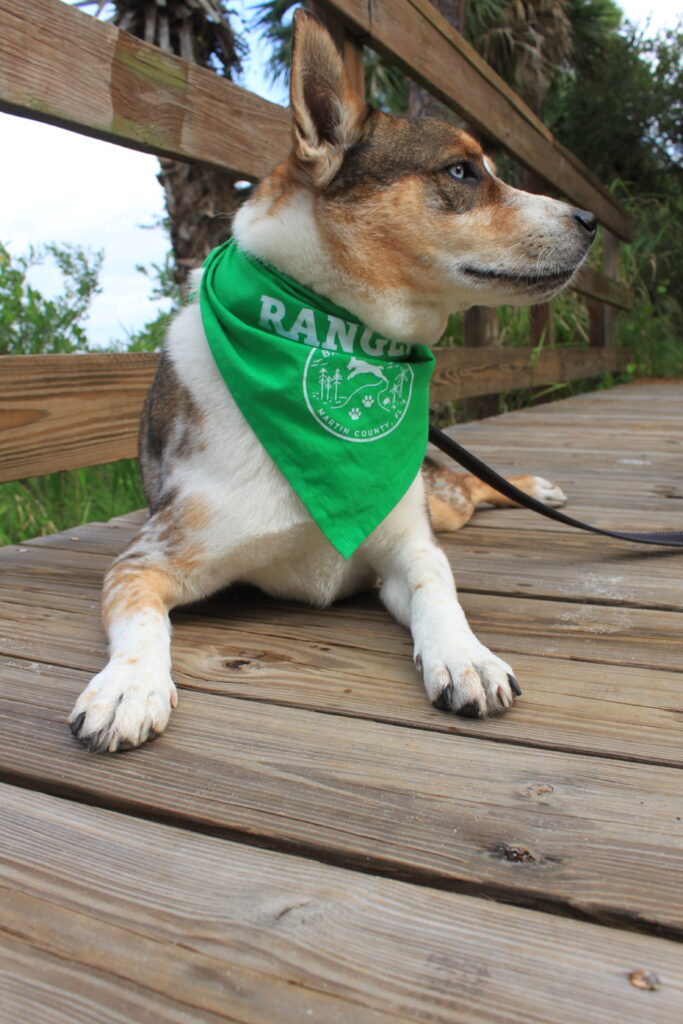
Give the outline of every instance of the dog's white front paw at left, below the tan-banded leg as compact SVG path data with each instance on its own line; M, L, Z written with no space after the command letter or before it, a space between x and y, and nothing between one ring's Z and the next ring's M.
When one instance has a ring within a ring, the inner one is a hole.
M168 673L110 662L76 701L71 731L94 753L128 751L164 731L177 700Z

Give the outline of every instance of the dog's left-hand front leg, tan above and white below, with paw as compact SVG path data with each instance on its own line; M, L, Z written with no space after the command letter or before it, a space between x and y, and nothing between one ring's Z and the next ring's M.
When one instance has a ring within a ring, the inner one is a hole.
M108 571L102 621L110 660L69 719L91 751L138 746L166 728L177 702L168 613L228 582L211 569L198 546L183 543L167 510L152 516Z

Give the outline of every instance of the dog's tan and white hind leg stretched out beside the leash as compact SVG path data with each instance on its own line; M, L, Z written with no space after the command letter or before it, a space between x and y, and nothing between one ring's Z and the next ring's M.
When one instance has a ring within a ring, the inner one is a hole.
M450 469L427 460L423 473L428 492L429 515L434 530L453 532L469 522L478 505L486 503L497 508L517 508L494 487L469 473L453 473ZM542 476L510 476L514 483L537 501L559 508L566 503L560 488Z

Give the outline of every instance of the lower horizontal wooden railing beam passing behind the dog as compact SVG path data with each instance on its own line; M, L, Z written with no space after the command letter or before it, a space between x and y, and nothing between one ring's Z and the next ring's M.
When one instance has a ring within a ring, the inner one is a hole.
M128 459L159 356L0 356L0 481ZM623 370L623 349L442 348L432 401Z

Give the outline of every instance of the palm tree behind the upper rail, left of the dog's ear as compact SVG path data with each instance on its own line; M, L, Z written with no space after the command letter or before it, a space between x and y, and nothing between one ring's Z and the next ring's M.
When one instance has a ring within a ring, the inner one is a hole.
M79 0L94 7L118 28L146 43L231 78L241 70L244 42L232 31L225 0ZM223 242L230 216L244 194L236 176L220 168L160 160L159 180L175 257L175 279L184 285L188 271Z

